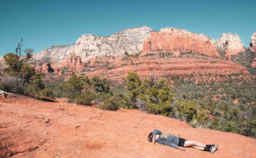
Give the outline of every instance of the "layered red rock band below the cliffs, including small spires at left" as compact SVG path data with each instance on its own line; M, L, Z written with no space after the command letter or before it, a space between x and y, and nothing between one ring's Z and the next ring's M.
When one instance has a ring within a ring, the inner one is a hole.
M59 68L58 75L50 76L50 82L61 78L67 79L68 75L74 70L78 75L100 75L109 80L119 81L128 72L136 72L140 77L154 76L173 76L173 75L230 75L248 74L246 68L233 61L222 61L220 59L202 56L200 54L184 54L179 57L174 54L170 56L119 56L102 57L88 59L83 62L79 58L77 62L72 61L69 73L61 75L63 68L68 67L69 63L63 63Z

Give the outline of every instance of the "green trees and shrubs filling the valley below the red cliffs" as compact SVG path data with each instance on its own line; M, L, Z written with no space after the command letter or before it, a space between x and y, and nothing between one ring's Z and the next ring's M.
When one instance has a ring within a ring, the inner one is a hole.
M194 127L255 137L255 83L252 79L243 79L241 83L241 79L236 79L238 76L219 76L220 83L213 80L194 83L193 75L140 79L139 75L129 73L124 83L113 84L99 76L84 75L76 76L80 81L74 82L82 82L81 92L72 94L77 94L73 99L77 104L90 105L94 100L103 110L139 109L181 119ZM73 90L72 86L67 88Z

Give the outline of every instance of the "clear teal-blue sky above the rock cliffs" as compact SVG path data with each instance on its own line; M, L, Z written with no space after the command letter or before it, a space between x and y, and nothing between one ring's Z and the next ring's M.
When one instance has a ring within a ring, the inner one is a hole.
M0 0L0 56L75 43L82 34L108 36L147 25L178 27L219 39L237 32L248 47L256 32L256 0Z

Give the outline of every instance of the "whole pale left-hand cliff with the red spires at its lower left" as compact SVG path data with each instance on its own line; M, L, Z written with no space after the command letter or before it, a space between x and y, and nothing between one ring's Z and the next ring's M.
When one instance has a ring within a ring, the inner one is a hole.
M123 54L138 54L142 51L142 43L152 29L147 26L126 29L108 37L92 34L82 35L76 44L54 46L34 54L35 69L43 73L60 73L60 68L69 67L69 71L85 68L87 59ZM50 68L54 71L49 72ZM57 70L58 69L58 70Z

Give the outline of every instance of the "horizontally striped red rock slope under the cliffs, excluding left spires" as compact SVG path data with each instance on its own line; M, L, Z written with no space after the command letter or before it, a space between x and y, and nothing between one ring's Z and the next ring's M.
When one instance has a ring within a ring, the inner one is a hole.
M108 66L106 63L109 63ZM103 66L102 68L100 66ZM100 75L111 80L120 80L128 72L136 72L140 77L149 77L150 73L154 76L172 76L172 75L229 75L235 73L248 74L246 68L232 61L222 61L208 57L204 58L157 58L157 57L139 57L115 59L97 59L91 61L90 68L97 67L92 71L82 74Z

